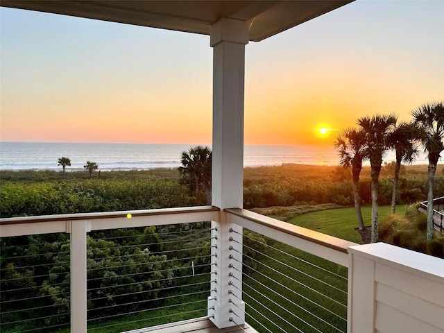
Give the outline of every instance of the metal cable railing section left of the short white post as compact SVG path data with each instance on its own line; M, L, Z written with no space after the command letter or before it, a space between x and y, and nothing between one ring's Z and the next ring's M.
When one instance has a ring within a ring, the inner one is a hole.
M3 237L0 259L0 332L68 328L69 234Z

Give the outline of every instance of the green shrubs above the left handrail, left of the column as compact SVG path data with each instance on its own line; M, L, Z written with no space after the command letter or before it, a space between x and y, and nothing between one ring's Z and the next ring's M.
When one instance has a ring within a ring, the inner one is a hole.
M192 203L172 180L5 181L1 217L181 207Z

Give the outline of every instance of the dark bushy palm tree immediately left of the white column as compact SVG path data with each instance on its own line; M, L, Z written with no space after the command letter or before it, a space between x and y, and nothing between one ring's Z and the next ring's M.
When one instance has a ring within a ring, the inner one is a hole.
M195 146L182 152L182 167L179 167L181 182L189 186L190 196L198 203L206 194L206 203L211 203L211 161L212 151L207 146Z

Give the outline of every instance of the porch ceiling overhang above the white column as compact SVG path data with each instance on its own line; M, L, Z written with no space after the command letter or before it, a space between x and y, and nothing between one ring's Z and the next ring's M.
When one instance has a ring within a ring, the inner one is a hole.
M259 42L352 1L1 0L0 6L205 35L227 17L247 21L250 41Z

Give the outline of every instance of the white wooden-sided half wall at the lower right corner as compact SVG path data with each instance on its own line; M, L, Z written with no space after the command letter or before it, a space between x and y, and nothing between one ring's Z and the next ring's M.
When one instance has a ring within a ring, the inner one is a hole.
M348 332L444 332L443 259L383 243L349 253Z

